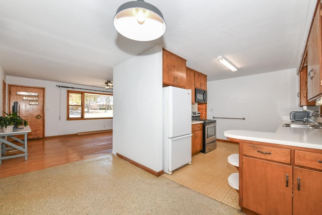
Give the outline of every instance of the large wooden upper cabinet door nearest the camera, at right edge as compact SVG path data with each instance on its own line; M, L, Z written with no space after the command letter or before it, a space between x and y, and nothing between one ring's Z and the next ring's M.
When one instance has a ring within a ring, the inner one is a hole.
M307 98L320 97L321 88L321 4L318 4L307 41Z

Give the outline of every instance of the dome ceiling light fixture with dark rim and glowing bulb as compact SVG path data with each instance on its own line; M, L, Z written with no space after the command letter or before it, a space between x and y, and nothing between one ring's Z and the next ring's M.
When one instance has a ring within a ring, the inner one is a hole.
M116 11L113 24L121 35L137 41L155 40L166 31L162 13L143 0L121 5Z

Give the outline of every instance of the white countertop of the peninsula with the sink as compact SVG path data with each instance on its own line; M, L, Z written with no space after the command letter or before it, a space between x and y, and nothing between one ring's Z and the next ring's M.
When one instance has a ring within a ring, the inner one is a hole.
M290 121L283 121L290 123ZM273 132L226 130L224 136L258 142L322 150L322 129L282 127Z

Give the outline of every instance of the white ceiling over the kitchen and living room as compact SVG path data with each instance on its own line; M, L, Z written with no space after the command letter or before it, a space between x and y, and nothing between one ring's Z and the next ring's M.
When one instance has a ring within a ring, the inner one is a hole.
M9 76L104 85L113 80L114 66L160 44L208 81L296 68L316 5L316 0L146 0L163 13L167 30L157 40L138 42L113 27L125 2L0 0L0 65ZM237 73L217 61L220 55Z

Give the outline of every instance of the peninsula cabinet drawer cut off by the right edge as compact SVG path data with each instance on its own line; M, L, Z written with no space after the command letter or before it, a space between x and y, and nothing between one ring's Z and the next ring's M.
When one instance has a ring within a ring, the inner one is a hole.
M322 170L322 154L295 150L294 164Z

